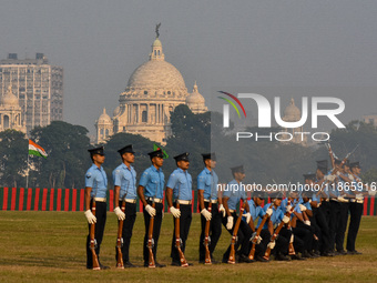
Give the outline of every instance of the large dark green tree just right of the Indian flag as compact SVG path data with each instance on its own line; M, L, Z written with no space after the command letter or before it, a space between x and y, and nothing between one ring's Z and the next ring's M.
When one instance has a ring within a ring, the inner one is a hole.
M83 188L84 174L90 166L88 130L63 121L53 121L34 128L31 139L49 154L33 158L35 170L31 174L34 186Z

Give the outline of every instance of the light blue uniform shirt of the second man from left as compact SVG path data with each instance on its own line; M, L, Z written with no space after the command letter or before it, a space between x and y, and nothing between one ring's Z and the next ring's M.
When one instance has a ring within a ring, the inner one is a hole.
M133 166L128 168L124 163L120 164L113 171L114 185L119 185L121 191L119 198L135 200L136 199L136 171Z

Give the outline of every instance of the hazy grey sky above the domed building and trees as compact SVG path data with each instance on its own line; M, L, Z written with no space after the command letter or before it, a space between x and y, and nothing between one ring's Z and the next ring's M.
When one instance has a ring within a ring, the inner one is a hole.
M162 22L165 60L216 90L333 95L343 121L376 112L377 1L2 0L0 58L44 53L64 68L64 120L86 127L112 115L134 69L145 62ZM210 105L211 107L211 105Z

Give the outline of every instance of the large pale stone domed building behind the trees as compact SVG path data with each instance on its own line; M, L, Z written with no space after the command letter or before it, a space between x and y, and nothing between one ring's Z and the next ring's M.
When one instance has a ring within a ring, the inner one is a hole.
M181 72L165 61L159 37L152 44L149 59L131 74L113 117L103 112L95 122L98 143L113 133L128 132L165 144L172 134L170 115L177 105L187 104L194 113L207 111L196 82L193 92L188 93ZM109 130L109 118L112 132Z

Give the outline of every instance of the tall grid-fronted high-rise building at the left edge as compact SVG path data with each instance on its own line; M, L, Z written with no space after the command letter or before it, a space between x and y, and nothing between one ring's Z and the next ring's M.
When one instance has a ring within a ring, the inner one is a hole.
M9 53L0 61L0 97L9 87L19 99L28 133L37 125L63 119L63 68L49 64L43 53L18 59Z

